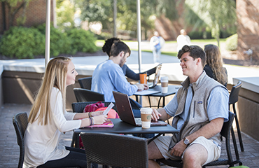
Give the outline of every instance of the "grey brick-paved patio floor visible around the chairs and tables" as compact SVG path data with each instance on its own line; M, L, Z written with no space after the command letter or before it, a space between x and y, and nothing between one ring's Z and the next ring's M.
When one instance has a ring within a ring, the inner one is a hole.
M1 106L0 167L18 167L20 148L17 144L15 129L13 127L13 116L15 116L16 113L20 112L29 113L30 109L31 106L27 104L4 104L3 106ZM66 134L62 136L61 143L66 146L70 146L72 134L73 132L66 132ZM241 162L243 162L243 165L246 165L248 167L259 167L259 142L244 133L242 133L242 139L244 141L244 152L240 152L239 144L237 144L237 146L239 147L239 156ZM233 158L235 158L234 149L232 149L232 153ZM223 146L221 157L226 157L225 146ZM99 167L102 166L100 165ZM167 166L165 165L161 167L167 168Z

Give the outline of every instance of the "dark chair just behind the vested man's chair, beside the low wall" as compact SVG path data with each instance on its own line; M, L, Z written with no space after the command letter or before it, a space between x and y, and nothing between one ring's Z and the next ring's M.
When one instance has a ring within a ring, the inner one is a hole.
M235 103L238 101L238 95L239 95L239 90L242 86L241 81L239 81L237 83L237 85L232 87L232 90L230 92L230 99L228 102L228 108L230 109L230 105L232 104L232 108L233 108L233 112L235 113L235 121L236 121L236 125L237 125L237 135L238 135L238 139L239 139L239 144L240 144L240 148L241 151L244 151L244 146L243 146L243 141L242 141L242 137L241 137L241 132L240 132L240 127L239 127L239 122L237 120L237 111L236 111L236 107L235 107ZM235 136L232 137L233 140L235 139ZM233 143L236 144L236 141L233 141Z

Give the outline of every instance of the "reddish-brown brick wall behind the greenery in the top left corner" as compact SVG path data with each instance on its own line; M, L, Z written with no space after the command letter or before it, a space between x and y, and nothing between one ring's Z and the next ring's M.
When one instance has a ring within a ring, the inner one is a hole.
M52 1L50 0L50 20L53 21L53 7ZM26 9L26 22L25 27L31 27L34 25L41 25L45 23L45 13L46 13L46 0L33 0L29 2ZM2 3L0 3L0 34L3 34L3 10ZM8 8L6 10L6 29L8 29ZM22 14L22 9L15 15L14 26L17 25L16 19Z

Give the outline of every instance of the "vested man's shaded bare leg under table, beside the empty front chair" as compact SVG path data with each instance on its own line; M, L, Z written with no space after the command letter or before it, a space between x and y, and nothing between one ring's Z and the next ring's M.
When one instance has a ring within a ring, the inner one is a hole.
M155 145L154 141L151 141L148 144L148 168L160 167L158 162L155 162L155 159L163 158L162 154L158 150L158 146Z

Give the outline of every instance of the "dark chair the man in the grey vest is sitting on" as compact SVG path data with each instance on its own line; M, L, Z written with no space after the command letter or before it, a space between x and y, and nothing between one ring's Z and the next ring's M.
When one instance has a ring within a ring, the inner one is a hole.
M224 123L222 130L221 130L221 136L225 137L225 148L227 150L228 158L215 160L213 162L209 162L207 165L204 165L203 167L209 167L209 166L218 166L218 165L230 165L230 167L233 167L235 164L239 163L239 165L242 165L242 162L237 159L233 160L231 150L230 150L230 132L232 132L232 123L235 118L235 113L232 113L229 111L228 116L228 122ZM237 155L238 151L235 151ZM181 160L165 160L165 159L159 159L157 162L162 162L165 165L168 165L170 167L183 167L183 162Z

